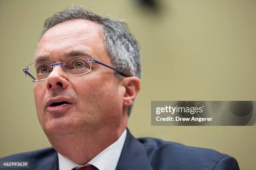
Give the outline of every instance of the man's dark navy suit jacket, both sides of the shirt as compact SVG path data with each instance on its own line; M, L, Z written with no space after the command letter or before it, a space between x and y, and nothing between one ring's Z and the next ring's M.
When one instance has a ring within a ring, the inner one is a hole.
M0 161L15 160L29 161L30 168L11 168L12 170L59 170L58 155L54 148L0 159ZM136 139L127 129L116 170L239 170L239 168L234 158L215 150L189 147L156 138Z

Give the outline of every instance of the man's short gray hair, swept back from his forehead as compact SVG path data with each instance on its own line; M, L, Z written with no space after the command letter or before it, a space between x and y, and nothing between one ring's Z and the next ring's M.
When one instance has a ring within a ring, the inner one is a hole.
M100 25L105 48L110 57L113 67L128 76L141 77L141 57L139 45L135 37L131 35L126 23L120 20L111 20L110 18L97 15L83 7L72 6L48 18L44 23L44 33L55 25L75 19L90 20ZM39 40L39 41L40 41ZM115 73L117 78L121 76ZM133 105L129 107L130 115Z

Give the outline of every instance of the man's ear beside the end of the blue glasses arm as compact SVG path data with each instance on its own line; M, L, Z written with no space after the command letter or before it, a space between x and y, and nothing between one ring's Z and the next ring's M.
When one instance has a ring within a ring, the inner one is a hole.
M125 87L123 95L123 106L128 107L133 104L138 92L141 89L141 82L138 77L126 77L122 82Z

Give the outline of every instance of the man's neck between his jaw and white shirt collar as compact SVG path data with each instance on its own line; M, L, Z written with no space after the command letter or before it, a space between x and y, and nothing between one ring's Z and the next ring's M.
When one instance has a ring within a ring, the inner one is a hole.
M114 130L97 130L97 133L78 132L68 135L47 135L49 142L61 155L79 165L87 164L102 150L120 138L126 125Z

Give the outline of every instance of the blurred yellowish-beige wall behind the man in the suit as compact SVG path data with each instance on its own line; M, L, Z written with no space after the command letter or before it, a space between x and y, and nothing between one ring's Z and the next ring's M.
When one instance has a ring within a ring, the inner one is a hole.
M0 0L0 157L49 147L39 125L33 61L46 18L70 5L124 19L141 45L143 72L128 128L212 148L255 170L255 126L151 126L151 100L256 100L256 0Z

